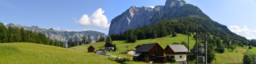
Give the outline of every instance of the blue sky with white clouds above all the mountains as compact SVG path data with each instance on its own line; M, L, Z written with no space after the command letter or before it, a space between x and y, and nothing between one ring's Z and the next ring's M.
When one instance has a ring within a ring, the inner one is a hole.
M131 6L165 5L166 0L0 0L0 22L65 31L108 33L111 20ZM213 21L247 39L256 38L256 0L185 0Z

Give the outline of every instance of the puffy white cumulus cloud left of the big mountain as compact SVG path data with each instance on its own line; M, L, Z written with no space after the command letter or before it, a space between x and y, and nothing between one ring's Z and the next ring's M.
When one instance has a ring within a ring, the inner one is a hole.
M109 28L110 23L107 24L107 17L103 15L104 12L104 10L99 8L90 17L87 14L83 15L76 23L81 26Z

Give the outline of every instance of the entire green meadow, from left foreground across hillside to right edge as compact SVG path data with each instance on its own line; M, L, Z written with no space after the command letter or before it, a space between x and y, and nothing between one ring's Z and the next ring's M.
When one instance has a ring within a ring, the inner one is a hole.
M161 37L155 39L138 40L136 43L127 41L113 41L118 47L118 52L107 52L111 55L119 55L127 57L127 54L122 54L132 50L138 44L159 43L162 48L174 42L187 43L187 35L177 34L177 37ZM192 48L196 41L191 36L189 37L189 47ZM111 56L103 56L96 53L87 53L87 48L93 46L96 50L104 49L105 42L91 43L72 48L60 48L55 46L36 44L36 43L0 43L0 64L119 64L107 58ZM128 46L128 48L127 48ZM236 52L237 51L237 52ZM255 54L256 48L252 49L236 47L232 52L225 48L224 53L216 52L216 63L242 63L244 54ZM132 59L132 55L128 54L128 58ZM192 61L191 64L193 64ZM212 63L214 63L213 60ZM133 62L135 64L145 64L141 62Z

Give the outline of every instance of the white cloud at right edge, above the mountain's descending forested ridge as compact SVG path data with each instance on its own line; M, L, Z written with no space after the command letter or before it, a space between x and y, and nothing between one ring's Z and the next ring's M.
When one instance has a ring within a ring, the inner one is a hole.
M238 35L244 36L247 39L255 39L256 38L256 30L248 29L247 26L240 28L239 26L229 26L229 30Z

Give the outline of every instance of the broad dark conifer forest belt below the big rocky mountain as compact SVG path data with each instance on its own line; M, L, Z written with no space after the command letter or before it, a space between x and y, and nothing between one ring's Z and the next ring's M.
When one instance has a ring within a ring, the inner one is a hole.
M216 21L212 21L210 18L202 17L183 17L172 20L163 20L153 25L128 29L119 34L112 33L111 38L113 41L128 40L129 42L134 43L136 40L166 37L168 35L176 37L176 33L190 34L190 32L193 33L199 30L208 30L209 32L215 32L230 37L246 39L245 37L230 32L226 26L221 25Z

